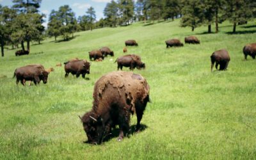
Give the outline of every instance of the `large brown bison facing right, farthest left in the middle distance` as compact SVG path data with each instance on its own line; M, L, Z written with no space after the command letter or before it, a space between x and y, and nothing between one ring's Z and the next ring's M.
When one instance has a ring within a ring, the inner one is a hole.
M16 84L18 84L19 81L22 85L25 85L26 81L33 81L35 84L39 84L41 80L45 84L47 83L48 75L49 72L45 71L42 65L27 65L17 68L13 77L16 76Z

